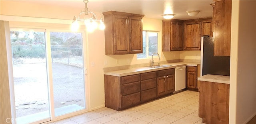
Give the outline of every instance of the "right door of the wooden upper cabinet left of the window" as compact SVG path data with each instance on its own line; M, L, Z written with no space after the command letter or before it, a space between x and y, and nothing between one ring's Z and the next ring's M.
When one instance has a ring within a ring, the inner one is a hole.
M142 20L141 18L129 17L129 47L130 53L142 53Z

